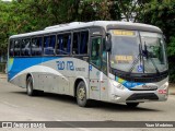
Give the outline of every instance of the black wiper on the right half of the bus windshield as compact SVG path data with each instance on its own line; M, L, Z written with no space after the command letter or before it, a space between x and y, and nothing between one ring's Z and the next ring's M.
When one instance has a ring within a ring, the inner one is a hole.
M152 62L153 67L154 67L154 68L155 68L155 70L156 70L156 73L158 73L158 74L160 74L159 69L158 69L158 67L156 67L156 64L155 64L154 60L150 57L150 55L151 55L151 52L149 52L149 51L148 51L148 49L147 49L147 45L145 45L145 41L144 41L143 57L145 57L147 59L149 59L149 58L150 58L150 60L151 60L151 62Z

